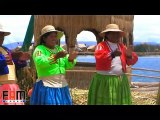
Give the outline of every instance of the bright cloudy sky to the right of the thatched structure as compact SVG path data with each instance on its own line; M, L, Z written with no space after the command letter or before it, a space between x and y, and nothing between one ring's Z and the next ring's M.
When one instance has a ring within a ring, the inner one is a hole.
M160 15L134 16L134 41L160 43Z

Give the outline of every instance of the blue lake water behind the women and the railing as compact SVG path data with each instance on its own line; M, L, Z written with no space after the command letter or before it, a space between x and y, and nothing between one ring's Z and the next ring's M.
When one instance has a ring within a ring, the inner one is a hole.
M77 57L77 61L95 63L95 58L92 55L85 55L85 56L79 55ZM139 57L138 62L132 67L160 70L160 56ZM146 76L160 77L160 72L133 70L132 73L146 75ZM132 81L133 82L160 82L160 79L132 76Z

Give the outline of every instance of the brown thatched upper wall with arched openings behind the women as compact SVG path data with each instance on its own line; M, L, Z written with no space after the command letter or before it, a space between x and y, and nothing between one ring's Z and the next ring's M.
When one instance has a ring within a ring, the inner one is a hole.
M48 24L54 25L57 29L64 31L68 47L74 47L77 34L83 30L95 34L97 43L102 41L98 33L105 29L107 24L116 23L126 32L125 40L128 44L133 41L133 15L35 15L34 16L34 37L35 44L40 35L41 29Z

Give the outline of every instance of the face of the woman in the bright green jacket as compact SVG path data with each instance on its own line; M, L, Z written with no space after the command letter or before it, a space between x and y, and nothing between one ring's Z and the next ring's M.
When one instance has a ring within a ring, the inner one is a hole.
M57 43L57 33L52 32L46 38L44 38L45 45L49 48L53 48Z

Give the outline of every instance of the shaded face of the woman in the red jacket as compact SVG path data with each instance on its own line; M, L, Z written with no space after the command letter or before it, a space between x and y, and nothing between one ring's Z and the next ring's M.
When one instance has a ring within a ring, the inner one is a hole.
M122 34L120 32L109 32L107 36L109 41L118 43L122 37Z

